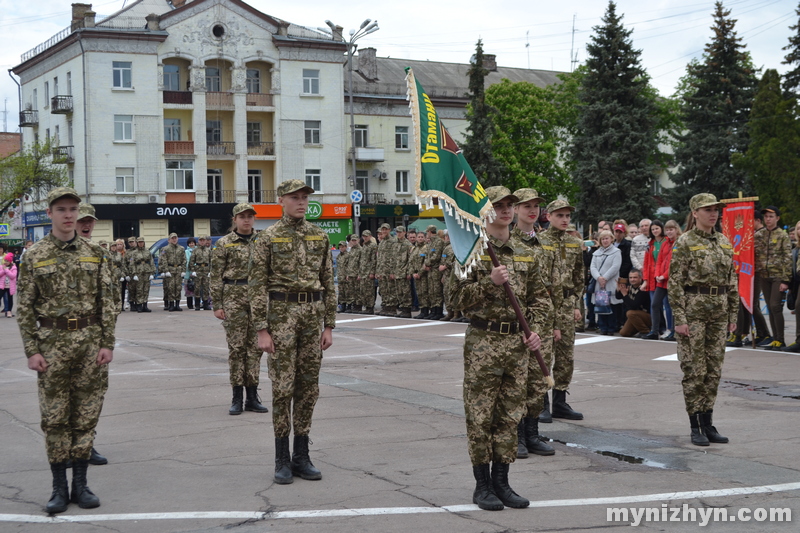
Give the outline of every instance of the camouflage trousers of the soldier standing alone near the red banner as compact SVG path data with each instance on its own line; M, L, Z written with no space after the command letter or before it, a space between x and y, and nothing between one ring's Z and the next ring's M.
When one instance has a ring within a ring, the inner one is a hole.
M683 399L686 412L691 415L712 410L717 400L725 359L728 313L724 295L687 294L685 298L689 336L675 337L678 339L678 360L683 371ZM719 300L719 305L704 305L702 300L709 298ZM700 305L693 306L693 303Z

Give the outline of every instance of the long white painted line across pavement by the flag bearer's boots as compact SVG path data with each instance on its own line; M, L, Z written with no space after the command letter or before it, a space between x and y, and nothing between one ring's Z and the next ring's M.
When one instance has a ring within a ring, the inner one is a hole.
M572 500L531 501L529 509L542 507L580 507L584 505L613 505L624 503L663 502L673 500L695 500L701 498L721 498L770 492L800 490L800 483L781 483L757 487L736 487L730 489L693 490L686 492L663 492L660 494L634 494L631 496L611 496L603 498L576 498ZM38 524L62 524L66 522L111 522L131 520L275 520L280 518L336 518L350 516L380 516L430 513L466 513L480 511L477 505L448 505L445 507L367 507L361 509L316 509L309 511L277 512L234 512L205 511L183 513L127 513L127 514L88 514L82 516L59 515L40 516L23 514L0 514L0 522L27 522ZM491 512L491 511L486 511ZM521 512L521 511L520 511Z

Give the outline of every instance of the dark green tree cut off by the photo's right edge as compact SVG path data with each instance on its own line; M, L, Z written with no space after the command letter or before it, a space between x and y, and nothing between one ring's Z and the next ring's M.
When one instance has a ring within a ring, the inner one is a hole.
M777 70L764 73L747 129L750 146L734 154L734 166L750 174L761 205L780 207L782 223L793 225L800 220L800 122Z

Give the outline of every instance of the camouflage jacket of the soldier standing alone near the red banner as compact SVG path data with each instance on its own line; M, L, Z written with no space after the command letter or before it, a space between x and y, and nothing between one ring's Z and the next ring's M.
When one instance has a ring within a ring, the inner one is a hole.
M727 305L728 323L736 323L739 311L739 278L733 265L733 247L718 231L689 230L675 241L669 265L667 293L675 325L688 323L685 287L727 287L718 296L703 295L711 309Z

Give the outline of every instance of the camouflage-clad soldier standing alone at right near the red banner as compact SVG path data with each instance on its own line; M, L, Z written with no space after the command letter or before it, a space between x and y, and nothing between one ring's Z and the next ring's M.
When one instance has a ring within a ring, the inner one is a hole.
M739 291L733 247L714 229L721 206L707 193L689 201L695 227L675 242L667 282L683 370L683 399L692 444L697 446L728 442L714 427L712 414L725 337L736 329Z

